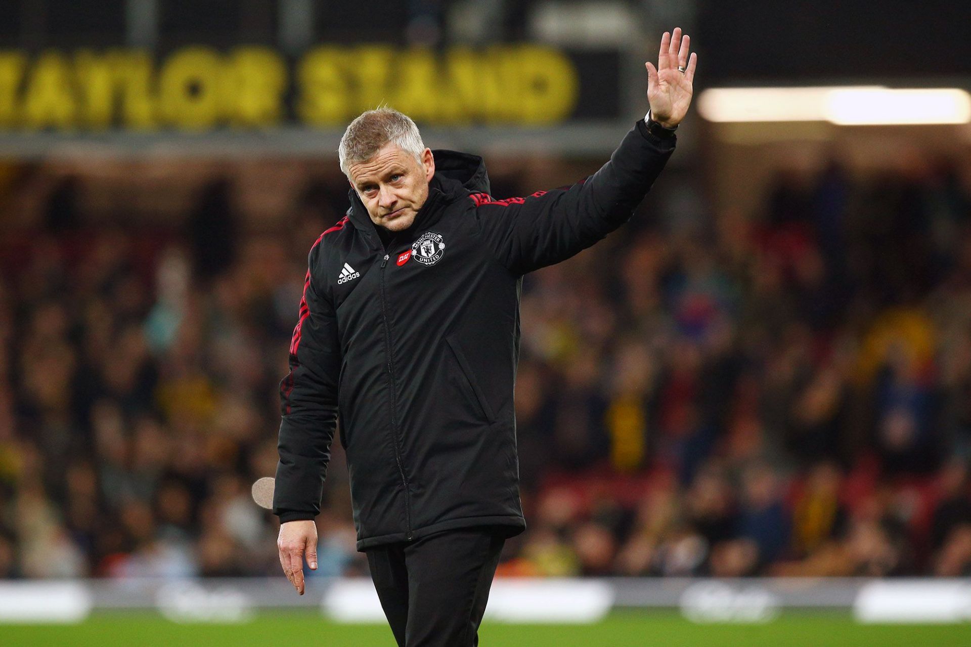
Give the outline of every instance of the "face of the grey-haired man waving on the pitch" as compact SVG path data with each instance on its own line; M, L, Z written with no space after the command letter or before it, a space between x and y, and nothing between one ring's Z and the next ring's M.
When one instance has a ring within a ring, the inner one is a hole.
M371 221L401 231L412 225L428 197L435 160L428 149L419 161L395 144L385 144L370 159L350 164L348 173Z

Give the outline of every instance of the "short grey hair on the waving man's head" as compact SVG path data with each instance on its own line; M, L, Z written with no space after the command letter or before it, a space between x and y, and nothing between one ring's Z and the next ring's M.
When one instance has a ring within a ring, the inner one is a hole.
M344 131L341 146L337 149L344 175L350 180L348 167L370 159L386 144L394 144L405 153L412 153L419 161L425 149L419 127L407 115L393 108L377 108L361 113Z

